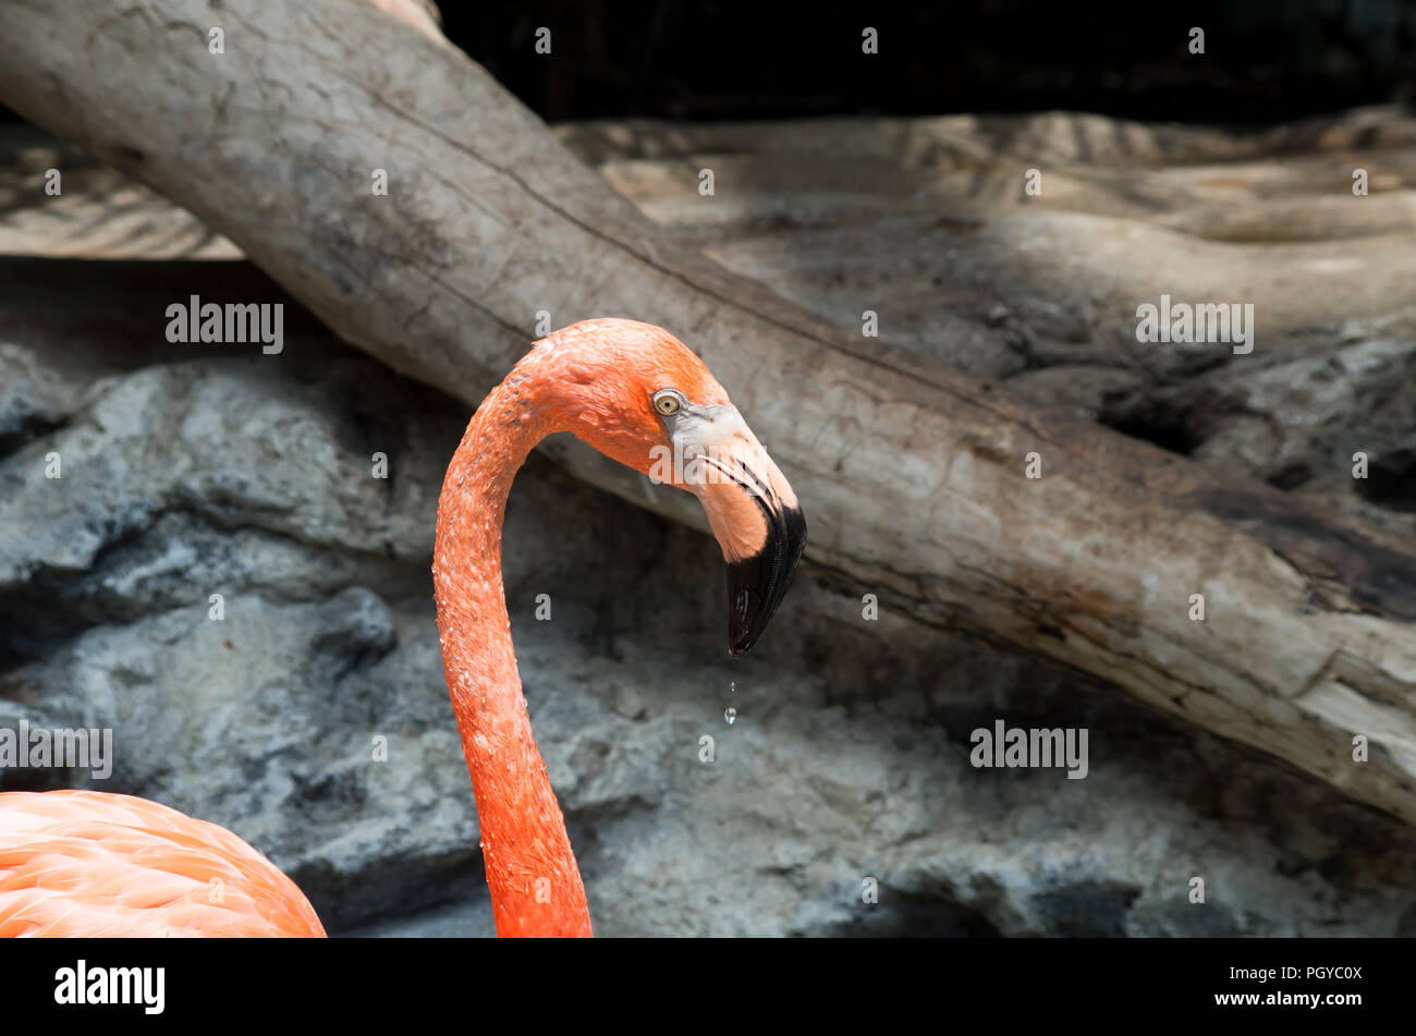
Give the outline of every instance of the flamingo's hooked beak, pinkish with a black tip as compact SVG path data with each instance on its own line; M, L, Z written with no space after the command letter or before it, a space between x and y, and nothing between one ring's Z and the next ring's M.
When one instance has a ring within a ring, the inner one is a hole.
M728 654L736 658L758 643L792 585L806 518L746 425L707 453L700 473L691 488L728 563Z

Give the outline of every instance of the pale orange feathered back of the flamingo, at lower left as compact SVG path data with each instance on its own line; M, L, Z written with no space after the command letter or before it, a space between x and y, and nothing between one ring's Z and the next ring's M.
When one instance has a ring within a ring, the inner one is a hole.
M99 791L0 794L0 937L324 936L229 831Z

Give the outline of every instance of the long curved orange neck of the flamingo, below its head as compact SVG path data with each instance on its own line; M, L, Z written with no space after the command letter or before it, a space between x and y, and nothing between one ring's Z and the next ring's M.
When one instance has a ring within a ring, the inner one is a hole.
M501 583L517 468L558 430L530 354L477 408L438 502L433 590L447 693L477 797L498 936L589 936L585 886L531 735Z

